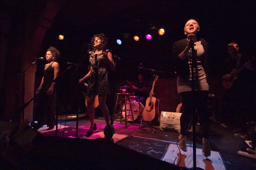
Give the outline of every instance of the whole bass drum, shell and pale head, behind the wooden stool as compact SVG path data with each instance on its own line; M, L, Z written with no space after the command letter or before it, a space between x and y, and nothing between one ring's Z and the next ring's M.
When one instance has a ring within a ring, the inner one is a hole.
M141 104L140 102L136 102L136 101L131 101L131 107L132 107L132 113L133 113L133 119L134 121L138 119L138 117L140 115L142 115L142 112L144 110L144 106L143 104ZM125 109L125 106L123 104L123 110ZM130 115L131 114L131 110L130 110L130 104L129 101L126 102L126 115ZM125 119L125 111L122 111L122 115ZM132 122L132 116L128 116L127 117L127 122Z

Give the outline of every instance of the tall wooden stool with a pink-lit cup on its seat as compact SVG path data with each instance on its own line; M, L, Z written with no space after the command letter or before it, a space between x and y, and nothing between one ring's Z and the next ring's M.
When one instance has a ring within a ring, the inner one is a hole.
M125 118L125 128L127 128L127 116L132 116L132 122L134 124L134 118L133 118L133 113L132 113L132 106L131 106L131 100L130 97L131 94L130 93L117 93L116 94L116 106L115 106L115 110L114 110L114 115L113 115L113 123L114 123L114 119L115 119L115 115L116 115L116 108L117 105L119 104L120 106L120 124L122 123L122 112L124 111L124 118ZM122 108L123 106L123 102L124 102L124 109ZM127 109L126 105L129 104L130 105L130 109ZM131 111L131 114L127 115L126 111Z

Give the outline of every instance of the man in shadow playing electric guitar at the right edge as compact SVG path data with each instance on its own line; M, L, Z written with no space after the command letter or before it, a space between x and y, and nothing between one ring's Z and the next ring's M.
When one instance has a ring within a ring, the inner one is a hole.
M223 96L224 120L229 125L239 128L237 131L246 131L246 122L255 121L253 110L255 110L255 61L250 61L246 55L238 53L239 47L236 43L228 44L229 58L223 64L223 85L231 82L229 88L226 86L226 94ZM240 70L240 68L242 68ZM235 72L240 70L239 72ZM236 73L236 74L234 74ZM253 101L254 99L254 101Z

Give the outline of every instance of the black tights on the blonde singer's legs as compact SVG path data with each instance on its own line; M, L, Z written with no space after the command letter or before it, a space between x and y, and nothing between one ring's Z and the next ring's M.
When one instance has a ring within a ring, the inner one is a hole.
M194 93L194 104L199 117L199 124L204 138L209 137L209 113L207 111L208 91L199 90ZM192 92L179 93L182 102L182 114L180 116L180 134L185 136L188 124L192 120Z

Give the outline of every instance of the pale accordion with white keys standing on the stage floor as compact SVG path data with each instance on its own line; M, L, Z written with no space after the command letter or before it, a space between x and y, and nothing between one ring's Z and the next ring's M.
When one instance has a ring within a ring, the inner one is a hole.
M176 112L161 112L160 130L161 131L178 131L180 133L180 116L181 113ZM192 131L192 126L189 131Z

